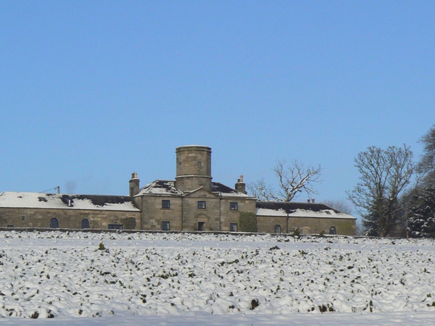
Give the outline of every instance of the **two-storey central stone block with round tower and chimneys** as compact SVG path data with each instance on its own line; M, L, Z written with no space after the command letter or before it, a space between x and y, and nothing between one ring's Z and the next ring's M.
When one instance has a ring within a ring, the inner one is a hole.
M156 180L140 189L132 175L130 196L142 212L142 229L238 231L239 213L256 210L243 180L236 189L213 182L210 147L178 147L175 153L175 180Z

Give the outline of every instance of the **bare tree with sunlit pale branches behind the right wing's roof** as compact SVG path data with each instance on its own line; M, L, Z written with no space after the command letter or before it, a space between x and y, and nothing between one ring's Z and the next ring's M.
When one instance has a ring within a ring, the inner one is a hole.
M279 190L275 191L272 186L260 179L247 188L251 194L261 201L292 201L299 192L306 192L308 196L318 195L314 190L314 183L321 182L321 166L308 166L305 168L302 162L294 160L287 164L286 160L277 161L273 171L279 182Z

